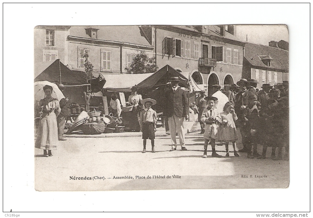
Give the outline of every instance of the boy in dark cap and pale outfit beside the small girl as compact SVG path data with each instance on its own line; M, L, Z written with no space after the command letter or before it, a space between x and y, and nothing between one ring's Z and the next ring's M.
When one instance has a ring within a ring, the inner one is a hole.
M218 99L216 97L210 96L205 97L205 100L207 101L207 108L205 108L201 115L201 121L205 122L204 127L204 152L203 152L203 158L207 158L207 148L209 140L211 140L212 145L212 157L214 158L220 158L222 157L215 151L215 139L217 138L217 131L218 131L218 125L217 122L222 122L221 116L219 115L219 112L216 108L214 108L215 101Z

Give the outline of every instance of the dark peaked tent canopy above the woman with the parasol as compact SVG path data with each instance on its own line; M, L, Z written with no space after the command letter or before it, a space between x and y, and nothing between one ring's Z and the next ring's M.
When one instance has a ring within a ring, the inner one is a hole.
M35 82L49 81L53 83L60 82L65 86L89 86L90 84L83 80L78 75L74 74L67 68L60 59L55 61L45 61L35 65Z

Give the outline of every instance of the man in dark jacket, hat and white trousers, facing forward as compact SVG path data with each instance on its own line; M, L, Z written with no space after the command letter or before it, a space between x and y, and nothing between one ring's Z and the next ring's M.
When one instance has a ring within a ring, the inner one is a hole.
M172 88L165 92L165 102L163 115L168 117L168 124L171 132L172 149L175 151L177 147L176 132L178 133L179 143L183 151L187 151L185 147L185 129L184 118L189 117L189 106L186 92L178 87L179 78L171 77L170 83Z

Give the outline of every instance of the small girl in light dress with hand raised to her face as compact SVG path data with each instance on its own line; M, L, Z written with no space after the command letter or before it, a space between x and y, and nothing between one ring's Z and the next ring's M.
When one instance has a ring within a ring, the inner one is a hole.
M225 143L226 147L226 157L229 157L228 153L228 144L231 142L233 143L233 149L234 149L234 155L235 157L239 157L239 154L237 152L236 148L236 140L237 134L236 134L236 125L235 122L238 117L234 111L234 105L232 102L228 101L224 108L223 112L220 114L222 118L222 122L219 124L218 128L218 140L221 140Z

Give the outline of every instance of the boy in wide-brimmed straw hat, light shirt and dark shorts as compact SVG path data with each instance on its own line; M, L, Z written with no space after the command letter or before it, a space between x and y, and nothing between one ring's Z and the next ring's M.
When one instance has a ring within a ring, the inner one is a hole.
M142 153L146 153L146 143L148 138L151 140L152 153L155 153L154 132L156 132L156 111L153 110L151 106L156 104L156 100L145 98L141 101L141 103L146 106L146 109L142 110L140 113L140 126L143 139Z

